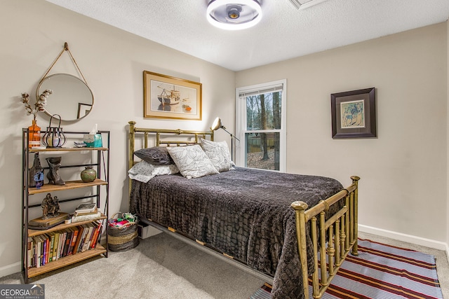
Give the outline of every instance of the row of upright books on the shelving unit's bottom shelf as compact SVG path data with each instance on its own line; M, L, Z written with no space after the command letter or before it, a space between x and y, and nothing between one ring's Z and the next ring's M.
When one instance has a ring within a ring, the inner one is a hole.
M29 237L27 267L41 267L65 256L94 249L101 230L102 221L94 221Z

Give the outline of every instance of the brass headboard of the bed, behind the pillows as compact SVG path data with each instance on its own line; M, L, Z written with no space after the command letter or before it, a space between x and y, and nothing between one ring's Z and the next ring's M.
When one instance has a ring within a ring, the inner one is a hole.
M140 148L147 148L149 141L151 146L181 146L197 144L200 138L209 137L213 141L213 130L209 131L189 131L189 130L167 130L149 129L145 127L135 127L135 121L129 123L129 148L128 148L128 169L135 165L134 152ZM143 139L142 146L135 148L135 139ZM129 191L131 191L131 180L129 180Z

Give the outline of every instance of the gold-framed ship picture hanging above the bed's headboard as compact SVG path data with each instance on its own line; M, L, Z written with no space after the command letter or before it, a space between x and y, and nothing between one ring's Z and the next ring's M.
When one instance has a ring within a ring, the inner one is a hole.
M144 118L201 120L201 83L143 72Z

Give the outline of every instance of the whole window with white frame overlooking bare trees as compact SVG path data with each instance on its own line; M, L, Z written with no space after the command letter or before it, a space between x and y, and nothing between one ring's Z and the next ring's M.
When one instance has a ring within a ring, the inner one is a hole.
M286 80L236 88L236 164L286 171Z

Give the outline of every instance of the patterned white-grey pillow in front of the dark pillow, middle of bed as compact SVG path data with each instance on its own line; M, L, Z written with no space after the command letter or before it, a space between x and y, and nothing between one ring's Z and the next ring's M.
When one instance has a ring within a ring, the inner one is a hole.
M180 169L182 176L187 179L219 173L198 144L194 146L168 147L167 151L173 161L175 161L177 168Z

